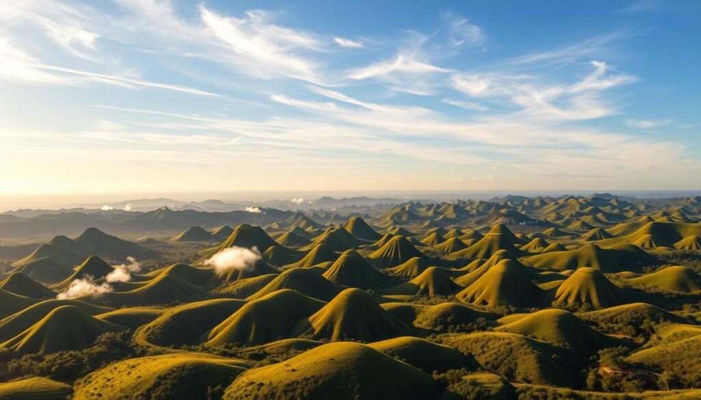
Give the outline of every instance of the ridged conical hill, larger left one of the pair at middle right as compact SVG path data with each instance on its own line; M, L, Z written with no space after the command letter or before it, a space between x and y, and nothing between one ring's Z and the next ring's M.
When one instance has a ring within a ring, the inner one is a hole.
M527 308L540 303L542 291L512 260L502 260L489 268L479 279L456 297L463 303L476 305L512 305Z

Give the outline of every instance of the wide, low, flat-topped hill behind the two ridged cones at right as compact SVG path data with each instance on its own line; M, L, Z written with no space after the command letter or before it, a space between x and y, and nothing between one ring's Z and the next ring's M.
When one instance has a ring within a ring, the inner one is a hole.
M592 267L602 273L640 271L644 265L655 263L655 258L633 245L602 249L596 244L566 251L550 251L526 257L524 263L546 270L576 270Z

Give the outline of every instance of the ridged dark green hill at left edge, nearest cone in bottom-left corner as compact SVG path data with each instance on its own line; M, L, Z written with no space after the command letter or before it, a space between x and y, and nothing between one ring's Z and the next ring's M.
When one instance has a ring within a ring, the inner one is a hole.
M22 353L81 350L102 333L123 329L124 326L100 321L74 305L62 305L0 347Z

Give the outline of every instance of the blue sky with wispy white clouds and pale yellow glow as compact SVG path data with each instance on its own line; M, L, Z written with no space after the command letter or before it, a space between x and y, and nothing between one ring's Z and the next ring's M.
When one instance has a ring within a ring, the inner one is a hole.
M0 195L696 190L701 2L0 2Z

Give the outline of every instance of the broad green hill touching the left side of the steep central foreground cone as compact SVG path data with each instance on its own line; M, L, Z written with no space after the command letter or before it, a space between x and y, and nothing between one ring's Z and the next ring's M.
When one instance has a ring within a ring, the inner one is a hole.
M209 333L207 345L226 343L261 345L293 334L300 319L313 315L324 306L322 301L283 289L250 301L217 325Z

